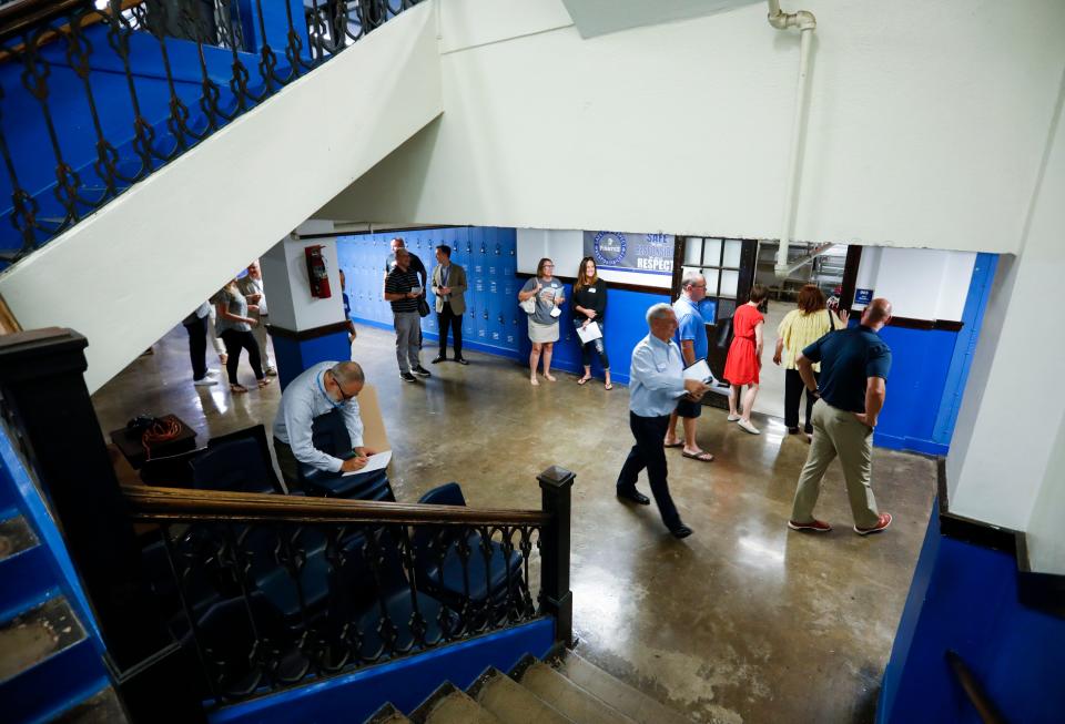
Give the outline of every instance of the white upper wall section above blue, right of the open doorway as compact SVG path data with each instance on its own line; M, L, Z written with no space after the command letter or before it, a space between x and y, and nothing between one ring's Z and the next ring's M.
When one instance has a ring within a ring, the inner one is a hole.
M866 247L855 287L891 299L897 317L957 322L965 310L975 263L975 252Z

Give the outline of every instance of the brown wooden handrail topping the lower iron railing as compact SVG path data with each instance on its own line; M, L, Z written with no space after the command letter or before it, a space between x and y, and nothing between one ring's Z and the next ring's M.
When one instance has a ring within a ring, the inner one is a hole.
M477 509L272 493L122 486L134 520L148 522L424 523L545 526L540 510Z

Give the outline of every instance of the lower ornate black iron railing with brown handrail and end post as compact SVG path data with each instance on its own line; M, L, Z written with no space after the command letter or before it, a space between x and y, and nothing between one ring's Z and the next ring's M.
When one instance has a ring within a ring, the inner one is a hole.
M546 614L568 643L571 482L545 471L544 510L123 493L158 524L144 573L220 706Z

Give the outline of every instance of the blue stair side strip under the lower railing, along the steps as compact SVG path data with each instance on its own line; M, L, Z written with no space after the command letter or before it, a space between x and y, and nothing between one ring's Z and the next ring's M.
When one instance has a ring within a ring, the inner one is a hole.
M555 642L555 620L529 623L434 649L220 710L211 724L331 724L362 722L392 702L409 714L443 683L466 689L485 669L509 671L526 653L542 659Z

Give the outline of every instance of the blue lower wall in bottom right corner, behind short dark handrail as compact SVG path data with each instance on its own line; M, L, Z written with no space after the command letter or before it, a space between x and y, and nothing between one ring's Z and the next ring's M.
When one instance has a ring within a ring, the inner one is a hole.
M1065 620L1020 603L1013 554L943 536L936 502L884 671L876 722L981 721L954 681L947 650L968 664L1006 721L1062 721Z

